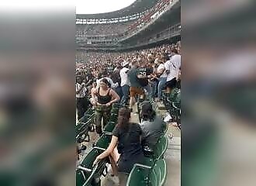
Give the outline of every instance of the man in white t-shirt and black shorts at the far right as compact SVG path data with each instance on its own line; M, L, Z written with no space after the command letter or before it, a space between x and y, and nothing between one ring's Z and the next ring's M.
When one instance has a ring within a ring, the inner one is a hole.
M168 62L166 62L166 73L167 73L167 80L166 80L166 87L167 87L167 93L171 93L171 90L175 88L177 79L178 79L178 73L179 69L182 64L182 57L178 54L177 50L172 50L174 55L171 57Z

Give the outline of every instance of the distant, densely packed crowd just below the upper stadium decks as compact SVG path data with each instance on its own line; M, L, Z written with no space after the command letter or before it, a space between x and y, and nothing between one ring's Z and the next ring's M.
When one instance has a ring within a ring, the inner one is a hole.
M161 47L122 53L77 51L76 74L86 81L88 90L90 90L93 81L100 77L109 76L124 61L130 65L134 60L137 60L139 65L150 63L150 61L156 63L161 56L165 53L171 53L173 49L176 49L181 54L181 43L164 44Z

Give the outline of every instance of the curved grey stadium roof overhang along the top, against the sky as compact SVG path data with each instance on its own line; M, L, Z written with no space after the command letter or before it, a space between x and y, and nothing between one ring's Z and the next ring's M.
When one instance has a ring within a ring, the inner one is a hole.
M131 15L137 12L144 12L156 4L157 0L137 0L132 5L114 12L100 14L76 14L76 19L111 19Z

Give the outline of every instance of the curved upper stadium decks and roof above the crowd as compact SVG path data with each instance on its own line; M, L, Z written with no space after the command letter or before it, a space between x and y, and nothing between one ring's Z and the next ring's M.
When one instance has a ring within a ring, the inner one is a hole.
M180 0L137 0L115 12L76 15L77 51L154 47L181 40L181 29Z

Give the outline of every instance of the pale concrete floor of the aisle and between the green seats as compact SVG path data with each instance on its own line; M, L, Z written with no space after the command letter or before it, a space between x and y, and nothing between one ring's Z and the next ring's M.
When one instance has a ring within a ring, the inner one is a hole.
M157 105L157 108L161 110L157 111L157 114L161 115L166 112L163 110L162 105ZM136 108L133 108L133 110ZM131 115L132 122L139 122L138 115ZM181 131L173 126L172 123L168 124L168 135L171 134L172 138L169 138L168 150L164 154L164 159L166 160L168 166L168 175L164 186L180 186L181 185ZM85 150L85 153L88 153L92 148L92 143L98 139L96 133L90 133L91 142L87 143L88 149ZM81 158L82 159L82 158ZM118 186L119 184L116 177L111 177L107 175L102 177L102 186Z

